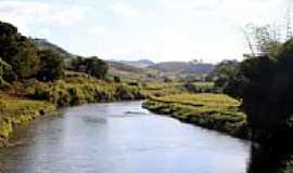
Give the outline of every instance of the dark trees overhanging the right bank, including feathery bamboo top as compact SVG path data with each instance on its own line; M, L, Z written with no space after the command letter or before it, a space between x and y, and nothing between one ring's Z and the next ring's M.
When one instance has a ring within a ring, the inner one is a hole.
M280 142L292 135L293 39L275 39L266 27L254 34L258 53L218 64L215 85L242 102L253 139Z

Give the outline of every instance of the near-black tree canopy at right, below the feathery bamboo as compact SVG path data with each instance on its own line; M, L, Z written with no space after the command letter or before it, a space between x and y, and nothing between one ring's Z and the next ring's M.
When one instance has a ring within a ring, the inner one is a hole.
M242 108L253 130L286 125L293 112L293 40L285 42L278 56L244 59L226 93L242 99ZM233 90L237 89L237 90Z

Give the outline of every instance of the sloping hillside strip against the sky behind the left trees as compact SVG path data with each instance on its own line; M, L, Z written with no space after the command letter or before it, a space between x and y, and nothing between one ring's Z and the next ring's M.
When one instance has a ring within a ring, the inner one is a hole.
M30 41L40 50L52 50L56 53L59 53L60 55L64 56L65 58L72 58L75 57L76 55L68 53L67 51L65 51L64 49L60 48L56 44L53 44L51 42L49 42L46 39L30 39Z

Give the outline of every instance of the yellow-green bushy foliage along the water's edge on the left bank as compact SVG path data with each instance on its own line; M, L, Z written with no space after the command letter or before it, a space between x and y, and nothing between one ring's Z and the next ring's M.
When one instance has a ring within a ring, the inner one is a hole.
M38 82L31 89L28 93L31 98L48 101L58 106L143 97L137 86L86 78L67 78L65 81L59 80L51 84Z

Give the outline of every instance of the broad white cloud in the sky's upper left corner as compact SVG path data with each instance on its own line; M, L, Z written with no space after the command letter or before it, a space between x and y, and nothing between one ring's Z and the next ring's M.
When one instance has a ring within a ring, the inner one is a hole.
M4 0L0 1L0 19L16 25L28 35L34 24L69 26L86 17L87 6L55 6L44 2Z

